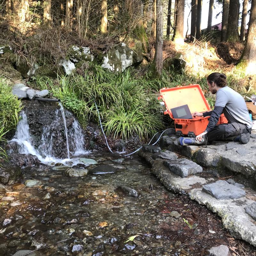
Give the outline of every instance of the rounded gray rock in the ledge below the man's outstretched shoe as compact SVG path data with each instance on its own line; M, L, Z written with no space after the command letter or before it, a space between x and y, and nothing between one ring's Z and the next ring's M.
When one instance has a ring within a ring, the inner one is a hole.
M200 148L196 152L196 162L206 167L217 166L220 162L220 155L211 148Z

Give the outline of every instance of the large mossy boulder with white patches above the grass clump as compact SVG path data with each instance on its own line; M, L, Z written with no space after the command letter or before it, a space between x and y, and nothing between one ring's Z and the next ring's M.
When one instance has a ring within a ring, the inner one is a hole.
M112 72L123 72L133 65L133 54L132 49L126 44L118 44L104 54L101 67Z

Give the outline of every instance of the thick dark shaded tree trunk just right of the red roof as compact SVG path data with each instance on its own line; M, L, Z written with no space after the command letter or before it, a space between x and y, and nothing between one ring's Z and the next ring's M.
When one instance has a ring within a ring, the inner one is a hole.
M238 20L239 20L239 0L230 0L228 11L228 29L227 29L227 42L237 42L238 35Z

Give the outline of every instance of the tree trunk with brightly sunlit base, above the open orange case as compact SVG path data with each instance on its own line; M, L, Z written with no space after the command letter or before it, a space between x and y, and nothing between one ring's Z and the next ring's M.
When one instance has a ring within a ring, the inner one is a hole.
M184 10L185 0L177 0L177 10L175 19L175 35L173 41L178 44L184 43Z

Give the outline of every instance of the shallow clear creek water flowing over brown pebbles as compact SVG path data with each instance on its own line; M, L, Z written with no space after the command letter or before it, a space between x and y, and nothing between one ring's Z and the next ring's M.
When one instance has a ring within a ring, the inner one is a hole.
M137 156L122 163L108 153L84 157L119 170L67 177L63 170L33 167L24 170L21 185L0 186L0 255L40 248L29 255L203 256L212 246L234 241L213 213L166 190ZM40 183L22 185L28 179ZM140 196L125 196L116 191L120 185Z

